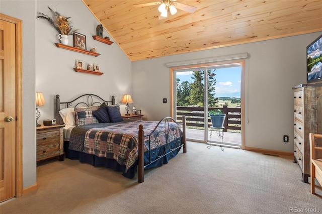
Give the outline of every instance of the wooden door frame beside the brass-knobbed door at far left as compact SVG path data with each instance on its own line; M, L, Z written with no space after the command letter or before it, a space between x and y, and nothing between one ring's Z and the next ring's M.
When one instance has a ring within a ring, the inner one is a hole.
M23 192L22 20L1 13L0 19L16 26L16 197L20 197Z

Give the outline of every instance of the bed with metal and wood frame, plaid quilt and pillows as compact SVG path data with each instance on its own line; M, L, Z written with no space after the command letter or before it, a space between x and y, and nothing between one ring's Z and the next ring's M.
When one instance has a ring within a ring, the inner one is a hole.
M182 123L166 117L160 121L123 121L115 97L105 100L84 94L67 102L55 99L55 118L64 127L66 158L93 166L122 171L138 182L144 181L144 169L174 158L181 148L187 152L185 117Z

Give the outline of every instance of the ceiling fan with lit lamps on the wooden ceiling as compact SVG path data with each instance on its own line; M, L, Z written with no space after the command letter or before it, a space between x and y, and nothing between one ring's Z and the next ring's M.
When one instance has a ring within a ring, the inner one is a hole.
M134 5L134 7L138 8L138 7L160 5L158 7L158 11L160 12L159 20L166 19L168 17L168 10L170 11L171 15L175 15L177 13L177 9L180 9L182 11L185 11L191 14L193 14L197 10L196 7L185 5L176 1L177 0L161 0L159 2L151 2L151 3Z

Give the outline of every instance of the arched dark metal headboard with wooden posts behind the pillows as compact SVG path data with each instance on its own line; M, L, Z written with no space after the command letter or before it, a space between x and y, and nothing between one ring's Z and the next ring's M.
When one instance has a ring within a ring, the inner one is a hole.
M93 106L93 105L101 105L105 102L107 105L114 105L115 104L115 96L112 96L111 101L104 100L98 95L88 93L78 96L77 98L67 101L67 102L60 102L59 94L56 94L56 101L55 101L55 118L57 124L62 124L63 121L59 115L60 106L61 104L65 104L63 108L75 108L77 105L83 106Z

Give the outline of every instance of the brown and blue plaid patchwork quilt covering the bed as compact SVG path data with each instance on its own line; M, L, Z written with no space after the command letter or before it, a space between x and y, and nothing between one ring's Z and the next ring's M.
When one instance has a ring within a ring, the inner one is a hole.
M126 171L138 159L138 130L143 125L144 151L155 149L181 136L176 123L158 121L133 121L117 124L92 124L75 127L69 140L69 149L116 160L126 166ZM96 127L94 126L96 125ZM149 135L151 134L151 135Z

